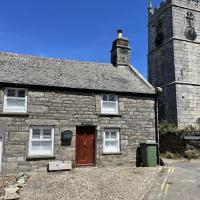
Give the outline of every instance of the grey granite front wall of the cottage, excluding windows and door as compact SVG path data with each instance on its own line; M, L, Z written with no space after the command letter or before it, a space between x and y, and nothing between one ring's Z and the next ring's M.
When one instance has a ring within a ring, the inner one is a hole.
M55 128L53 160L75 160L77 126L96 127L96 165L134 165L138 143L155 139L154 98L119 95L119 115L101 115L101 94L28 90L28 113L3 113L4 88L0 88L0 121L5 123L3 172L45 167L49 160L28 159L30 127ZM119 128L121 154L103 155L104 128ZM61 146L61 132L73 132L72 144Z

